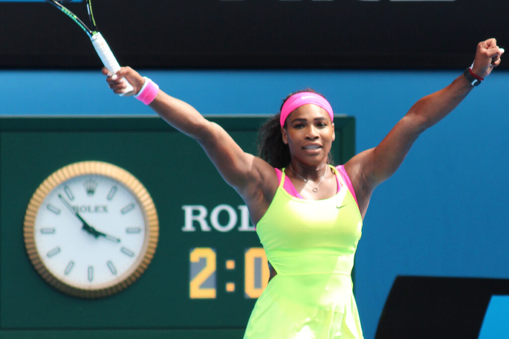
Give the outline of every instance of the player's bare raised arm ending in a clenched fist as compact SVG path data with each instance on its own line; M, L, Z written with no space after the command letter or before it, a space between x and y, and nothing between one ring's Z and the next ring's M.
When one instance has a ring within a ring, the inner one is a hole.
M480 42L471 76L479 79L488 76L500 64L502 53L495 39ZM362 216L373 190L398 169L417 137L453 111L473 87L466 76L460 75L447 87L420 99L378 146L359 153L345 164Z

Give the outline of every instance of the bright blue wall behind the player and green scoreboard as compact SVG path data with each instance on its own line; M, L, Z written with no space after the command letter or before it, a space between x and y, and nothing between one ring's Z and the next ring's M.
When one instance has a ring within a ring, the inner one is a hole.
M357 150L377 145L410 106L462 70L144 71L203 114L271 114L314 87L357 118ZM99 72L0 71L0 114L154 114L110 93ZM415 143L375 191L356 256L356 298L373 338L398 274L509 278L509 73L495 72Z

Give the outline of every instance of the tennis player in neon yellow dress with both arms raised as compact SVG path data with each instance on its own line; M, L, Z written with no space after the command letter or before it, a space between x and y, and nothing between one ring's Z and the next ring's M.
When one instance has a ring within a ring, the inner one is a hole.
M362 338L351 270L373 190L401 165L417 137L454 110L500 64L495 39L452 83L418 100L387 136L332 166L334 115L313 90L289 96L262 128L260 155L244 152L220 126L129 67L106 81L126 88L168 124L195 139L245 201L272 266L244 338ZM181 161L185 161L182 159Z

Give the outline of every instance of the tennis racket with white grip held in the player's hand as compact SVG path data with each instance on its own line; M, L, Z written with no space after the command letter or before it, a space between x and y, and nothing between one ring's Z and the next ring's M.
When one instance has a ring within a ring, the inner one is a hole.
M91 28L87 26L83 21L81 21L76 14L72 13L62 5L62 3L69 3L72 0L46 0L50 5L53 5L54 7L61 10L64 14L66 14L69 18L71 18L81 29L84 30L85 33L89 36L90 40L92 41L92 45L94 45L94 48L96 49L97 55L101 58L102 63L104 64L104 67L106 67L109 71L112 73L117 73L118 70L120 70L120 65L115 58L115 55L111 52L111 49L109 48L108 44L106 43L106 40L102 37L101 33L97 30L97 26L94 19L94 13L92 12L92 4L91 0L85 0L87 4L87 12L89 13L89 19ZM133 90L133 87L129 84L129 82L123 78L127 84L127 88L125 89L125 93L129 93L131 90ZM121 94L122 96L123 94Z

